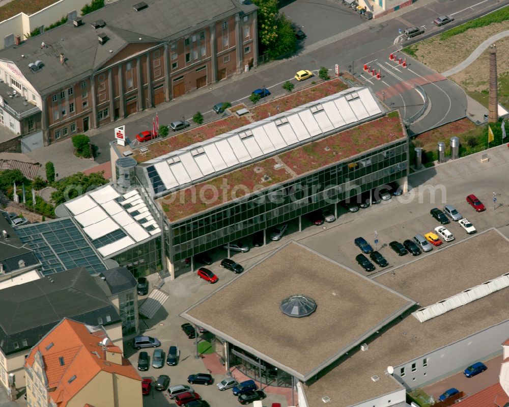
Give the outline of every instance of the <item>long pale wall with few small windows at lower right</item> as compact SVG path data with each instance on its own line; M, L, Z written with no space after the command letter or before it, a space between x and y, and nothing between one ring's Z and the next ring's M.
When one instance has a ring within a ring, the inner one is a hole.
M425 324L422 329L426 331ZM422 355L403 365L395 366L394 378L407 389L415 389L436 382L440 378L464 370L476 361L482 361L488 356L501 353L500 344L507 339L508 332L509 320ZM412 372L414 363L415 371ZM427 364L426 367L423 366L425 364ZM404 377L401 377L402 368L405 369Z

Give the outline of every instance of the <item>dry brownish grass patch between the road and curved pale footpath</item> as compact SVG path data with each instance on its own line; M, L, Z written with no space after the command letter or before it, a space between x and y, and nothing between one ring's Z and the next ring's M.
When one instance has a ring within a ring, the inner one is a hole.
M491 23L484 27L469 29L464 33L447 38L444 41L440 41L440 36L438 35L415 44L413 47L414 50L417 48L417 50L415 50L415 57L435 71L440 73L445 72L467 59L467 57L480 45L480 43L495 34L506 31L508 26L509 24L507 21ZM501 48L502 44L499 45L499 42L496 44L497 60L498 58L503 58L502 54L508 55L509 49ZM500 66L500 61L497 62L497 65ZM507 69L506 66L504 69Z

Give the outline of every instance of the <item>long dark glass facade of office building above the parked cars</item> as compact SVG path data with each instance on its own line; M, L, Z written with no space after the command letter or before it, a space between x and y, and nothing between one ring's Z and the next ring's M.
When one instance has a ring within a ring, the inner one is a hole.
M172 262L344 201L408 174L408 139L296 177L171 224Z

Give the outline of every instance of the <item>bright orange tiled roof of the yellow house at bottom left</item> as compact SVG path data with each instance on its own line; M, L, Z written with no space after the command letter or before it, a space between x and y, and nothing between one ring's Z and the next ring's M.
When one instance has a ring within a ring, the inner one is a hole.
M141 381L129 360L122 358L122 365L119 365L104 359L100 344L104 337L103 330L91 332L87 325L64 318L32 348L25 365L32 366L35 354L41 353L48 388L55 388L48 395L59 407L67 405L101 370ZM111 352L122 352L116 345L110 344L107 348Z

